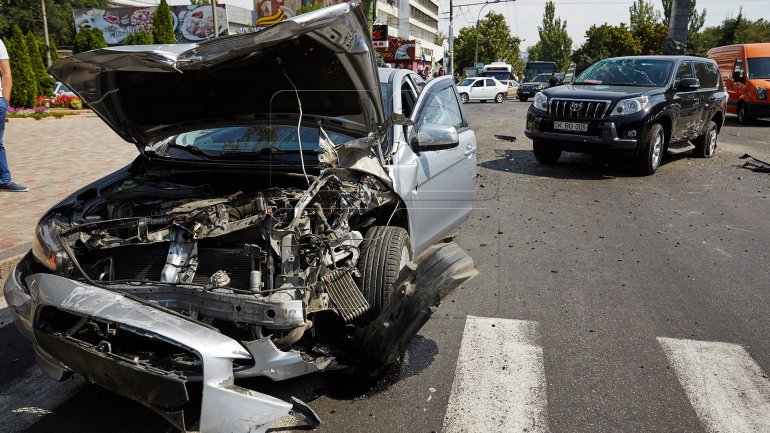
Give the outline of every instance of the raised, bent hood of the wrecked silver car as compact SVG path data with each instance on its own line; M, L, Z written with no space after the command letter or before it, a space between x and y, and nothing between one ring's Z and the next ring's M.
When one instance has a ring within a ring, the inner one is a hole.
M184 130L300 111L364 135L384 121L366 29L360 7L346 3L198 44L76 54L50 72L140 149Z

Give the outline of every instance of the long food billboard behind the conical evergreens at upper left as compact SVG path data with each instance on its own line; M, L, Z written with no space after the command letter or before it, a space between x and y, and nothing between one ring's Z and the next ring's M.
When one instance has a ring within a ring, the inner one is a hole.
M177 43L199 42L214 36L211 5L171 6L174 36ZM75 28L98 28L109 45L120 45L131 33L142 30L152 33L152 13L155 7L120 7L105 9L75 9ZM217 5L217 34L227 31L225 5Z

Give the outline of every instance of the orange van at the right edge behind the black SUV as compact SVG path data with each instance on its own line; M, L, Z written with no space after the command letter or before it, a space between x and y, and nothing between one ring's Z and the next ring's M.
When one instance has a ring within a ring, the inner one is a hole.
M728 113L736 114L744 124L770 117L770 43L712 48L707 56L722 73Z

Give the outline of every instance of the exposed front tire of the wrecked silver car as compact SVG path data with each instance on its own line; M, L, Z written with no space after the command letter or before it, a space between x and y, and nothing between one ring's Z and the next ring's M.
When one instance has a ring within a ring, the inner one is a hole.
M412 259L409 234L401 227L373 226L366 232L358 258L360 278L356 283L369 302L369 310L360 318L366 324L387 307L393 283L401 268Z

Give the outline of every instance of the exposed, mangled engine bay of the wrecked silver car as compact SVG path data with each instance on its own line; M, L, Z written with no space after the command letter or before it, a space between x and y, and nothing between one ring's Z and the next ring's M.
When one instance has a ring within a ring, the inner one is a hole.
M367 228L396 210L386 185L329 169L307 190L215 189L124 180L75 208L59 236L90 280L238 340L288 348L322 313L363 323L371 307L357 265Z

